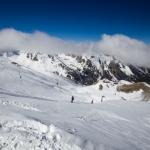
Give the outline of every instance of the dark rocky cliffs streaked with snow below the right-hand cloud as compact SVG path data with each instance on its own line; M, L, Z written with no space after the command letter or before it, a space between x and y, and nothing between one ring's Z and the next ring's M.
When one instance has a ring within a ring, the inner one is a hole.
M80 58L80 62L82 59ZM68 77L83 85L92 85L98 82L99 79L108 79L110 81L120 81L126 80L130 82L146 82L150 84L150 68L135 67L133 65L128 65L132 72L132 75L128 75L121 70L119 62L111 61L107 66L108 69L105 70L104 66L106 62L102 62L99 59L99 64L101 66L102 72L93 65L90 59L86 60L86 65L81 70L68 70ZM122 64L125 69L125 65Z

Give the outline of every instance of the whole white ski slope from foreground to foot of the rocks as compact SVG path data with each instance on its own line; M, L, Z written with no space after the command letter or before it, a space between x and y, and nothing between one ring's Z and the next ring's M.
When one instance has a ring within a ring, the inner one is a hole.
M57 63L52 68L21 60L14 65L0 58L0 149L150 149L150 102L141 101L142 91L117 92L107 81L77 85L50 72Z

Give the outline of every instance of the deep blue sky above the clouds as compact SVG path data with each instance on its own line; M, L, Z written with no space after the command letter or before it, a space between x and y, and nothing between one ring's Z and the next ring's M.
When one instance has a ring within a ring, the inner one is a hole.
M82 41L120 33L150 43L150 1L3 0L0 29L8 27Z

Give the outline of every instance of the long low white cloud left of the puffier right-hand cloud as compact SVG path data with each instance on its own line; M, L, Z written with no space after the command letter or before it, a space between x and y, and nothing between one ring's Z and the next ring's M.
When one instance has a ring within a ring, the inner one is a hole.
M88 50L90 43L77 43L64 41L60 38L49 36L46 33L35 31L24 33L15 29L0 31L0 49L30 50L44 53L81 52Z

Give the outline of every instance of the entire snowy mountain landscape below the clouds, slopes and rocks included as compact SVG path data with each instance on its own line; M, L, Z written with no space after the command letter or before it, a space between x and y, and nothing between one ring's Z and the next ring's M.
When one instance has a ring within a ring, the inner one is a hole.
M149 75L104 54L3 51L0 149L149 149Z

